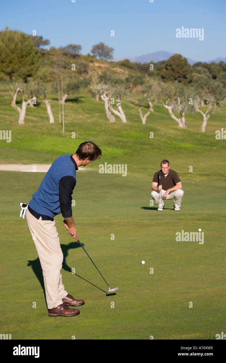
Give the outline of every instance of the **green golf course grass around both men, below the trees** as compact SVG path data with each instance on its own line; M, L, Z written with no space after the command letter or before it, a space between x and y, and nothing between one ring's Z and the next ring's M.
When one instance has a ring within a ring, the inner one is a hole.
M89 139L101 147L102 159L78 172L73 215L81 242L110 286L120 290L106 297L105 282L66 233L59 215L55 220L65 255L63 283L85 305L78 317L48 317L37 251L18 207L20 201L30 200L43 174L1 172L1 300L6 309L1 330L11 333L12 339L71 339L72 335L76 339L149 339L150 335L154 339L214 339L224 329L225 141L215 140L215 130L224 127L225 107L209 118L204 134L199 131L199 114L189 115L188 129L180 130L159 106L142 125L136 107L127 102L128 123L117 119L109 124L102 102L85 93L79 96L80 102L66 102L62 136L57 102L51 103L53 125L41 104L28 107L25 125L19 126L11 98L2 92L1 129L12 130L12 142L0 141L1 162L51 163ZM75 139L71 139L73 131ZM150 131L154 139L149 138ZM179 213L170 201L162 213L149 207L152 176L163 158L170 160L182 180L185 195ZM105 161L127 164L127 176L99 174L98 165ZM203 245L175 241L181 229L198 228L204 231ZM141 265L141 260L146 264ZM70 273L72 267L76 275Z

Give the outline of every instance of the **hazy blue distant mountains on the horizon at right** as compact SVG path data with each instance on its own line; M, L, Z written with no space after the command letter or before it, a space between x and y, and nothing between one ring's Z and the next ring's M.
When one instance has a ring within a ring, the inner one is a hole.
M117 59L114 59L114 61L122 61L124 59L129 59L130 62L141 62L141 63L148 63L150 61L159 62L159 61L166 61L173 54L175 54L175 53L169 53L169 52L165 52L165 50L160 50L159 52L147 53L147 54L143 54L142 56L139 56L139 57L137 57L137 56L127 56L127 57L124 57L124 58L117 58ZM198 62L198 61L194 61L191 58L187 58L187 60L188 60L188 63L191 64L191 65ZM217 62L218 63L220 61L226 62L226 58L218 57L215 60L208 61L206 63L211 63L211 62Z

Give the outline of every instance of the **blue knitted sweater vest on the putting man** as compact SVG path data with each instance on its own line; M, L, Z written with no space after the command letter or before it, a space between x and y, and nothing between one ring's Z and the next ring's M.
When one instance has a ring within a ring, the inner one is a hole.
M51 218L60 214L59 181L67 175L74 176L76 180L75 164L71 161L71 155L62 155L53 162L37 192L32 194L29 207Z

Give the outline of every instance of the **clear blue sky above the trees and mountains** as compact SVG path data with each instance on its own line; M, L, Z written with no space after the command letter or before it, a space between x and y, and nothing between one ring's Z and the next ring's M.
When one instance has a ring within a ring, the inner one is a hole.
M197 61L226 57L225 0L10 0L0 4L0 29L21 30L50 46L104 42L114 58L166 50ZM204 40L176 38L176 28L204 28ZM115 36L110 36L114 30ZM47 47L48 48L48 47Z

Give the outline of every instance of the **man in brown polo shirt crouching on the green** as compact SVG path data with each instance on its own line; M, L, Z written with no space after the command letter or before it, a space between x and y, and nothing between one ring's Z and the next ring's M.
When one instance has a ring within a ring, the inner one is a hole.
M161 170L156 171L152 180L151 196L158 205L158 211L162 211L164 208L165 204L162 199L175 199L173 207L175 211L180 211L184 191L181 189L182 184L176 171L169 168L168 160L162 160Z

